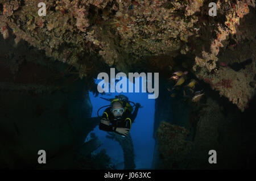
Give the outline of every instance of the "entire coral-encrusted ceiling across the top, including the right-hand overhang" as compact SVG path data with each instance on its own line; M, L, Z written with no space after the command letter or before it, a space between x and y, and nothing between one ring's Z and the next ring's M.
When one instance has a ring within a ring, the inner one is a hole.
M195 58L193 70L197 78L207 82L213 78L212 88L239 104L241 110L253 95L252 88L241 98L234 93L249 85L249 82L232 79L231 76L243 77L242 72L236 73L224 66L230 73L227 77L222 71L218 75L208 74L218 71L218 60L226 64L248 58L255 60L255 54L247 54L246 47L241 47L246 53L240 52L237 58L222 58L221 53L227 48L235 49L243 40L249 40L250 48L255 47L253 17L247 20L251 23L243 22L247 15L254 15L250 11L255 8L254 1L217 1L218 15L214 17L202 15L209 10L206 0L47 0L46 16L38 16L37 3L0 0L3 37L7 39L14 33L16 44L23 39L45 50L47 56L74 66L80 78L96 77L101 65L115 66L127 73L138 71L138 65L145 68L144 65L150 64L151 68L155 66L154 69L162 71L174 64L172 60L177 54L187 54ZM236 52L229 54L232 57ZM158 62L158 58L148 60L148 57L162 55L171 58L164 60L164 64ZM251 76L254 70L241 80L251 82ZM236 90L237 85L243 87Z

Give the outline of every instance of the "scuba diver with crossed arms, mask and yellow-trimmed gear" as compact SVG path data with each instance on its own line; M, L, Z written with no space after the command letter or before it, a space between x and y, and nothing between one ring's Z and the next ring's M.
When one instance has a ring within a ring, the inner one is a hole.
M114 99L102 99L109 100L111 104L109 106L103 106L108 108L106 108L101 117L98 116L101 119L99 128L107 132L116 132L121 134L122 137L127 136L131 129L131 124L134 123L137 116L138 109L141 108L141 104L134 104L125 95L115 96ZM133 106L130 103L133 103L135 106L134 112Z

